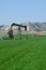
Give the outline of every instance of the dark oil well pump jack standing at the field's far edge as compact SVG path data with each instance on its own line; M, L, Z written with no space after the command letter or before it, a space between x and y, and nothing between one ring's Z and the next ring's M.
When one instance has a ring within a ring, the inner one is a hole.
M14 37L13 37L13 26L17 26L18 27L19 33L20 33L20 28L25 28L25 31L27 31L27 26L22 26L22 25L13 23L11 25L11 28L10 28L9 32L7 32L10 39L14 39Z

